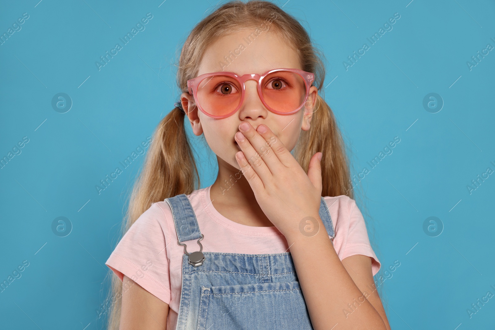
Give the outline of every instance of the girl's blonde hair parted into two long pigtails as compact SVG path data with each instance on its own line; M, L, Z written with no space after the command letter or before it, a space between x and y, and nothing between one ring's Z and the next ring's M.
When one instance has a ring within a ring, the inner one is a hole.
M306 30L293 16L268 1L227 2L198 23L180 53L177 72L179 90L187 92L187 80L196 77L204 49L213 40L224 36L226 31L257 28L267 21L270 21L270 29L297 50L302 69L315 74L314 85L319 92L322 91L325 78L322 52L313 46ZM184 120L185 114L174 108L156 127L143 170L130 196L122 236L152 203L199 189L198 169L186 136ZM294 157L307 173L309 160L321 151L322 196L347 195L353 198L344 143L330 106L319 93L310 126L308 131L301 132L293 150ZM112 302L108 318L110 330L117 330L120 325L122 285L113 275L109 295Z

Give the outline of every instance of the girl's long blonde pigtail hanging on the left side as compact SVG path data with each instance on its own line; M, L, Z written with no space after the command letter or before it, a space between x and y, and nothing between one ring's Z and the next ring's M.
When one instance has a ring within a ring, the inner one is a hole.
M123 221L122 236L152 203L198 189L196 162L184 127L185 114L174 108L158 124L142 172L136 179ZM113 273L110 295L99 313L109 312L109 330L118 330L122 308L122 281Z

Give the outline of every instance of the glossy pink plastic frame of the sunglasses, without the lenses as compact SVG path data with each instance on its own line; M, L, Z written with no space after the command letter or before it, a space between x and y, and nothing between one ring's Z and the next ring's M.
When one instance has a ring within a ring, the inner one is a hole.
M306 96L304 97L304 101L302 102L301 106L299 106L294 111L291 111L291 112L280 112L280 111L276 111L276 110L272 109L270 106L268 106L268 104L266 104L265 100L263 99L263 94L261 92L261 81L267 75L269 75L269 74L271 74L273 72L276 72L276 71L291 71L291 72L294 72L294 73L298 74L299 76L301 76L301 78L304 80L304 83L306 84ZM212 114L207 113L205 110L203 110L203 108L201 107L201 105L198 102L198 99L196 98L196 94L198 93L198 85L199 85L199 83L203 79L208 78L208 77L211 77L211 76L215 76L215 75L222 75L222 76L233 77L233 78L237 79L237 81L239 82L239 84L242 86L241 100L239 102L239 105L237 106L237 108L235 110L233 110L232 112L230 112L230 113L228 113L226 115L223 115L223 116L214 116ZM188 87L189 94L194 96L194 99L196 101L196 104L197 104L199 110L201 110L202 113L204 113L205 115L207 115L207 116L209 116L211 118L218 118L219 119L219 118L229 117L229 116L233 115L234 113L236 113L241 108L241 105L244 102L244 96L246 95L246 85L245 85L245 83L246 83L247 80L251 80L251 79L257 81L257 89L258 89L259 98L261 99L261 102L263 102L263 104L266 106L267 109L269 109L270 111L272 111L274 113L277 113L277 114L290 115L292 113L295 113L295 112L299 111L299 109L302 108L304 106L304 104L306 104L306 100L307 100L307 98L309 96L309 88L311 87L311 85L312 85L312 83L314 81L314 73L306 72L306 71L303 71L303 70L300 70L300 69L273 69L273 70L269 70L269 71L265 72L262 75L259 75L257 73L251 73L251 74L248 74L247 73L245 75L239 76L239 75L235 74L234 72L219 71L219 72L205 73L205 74L199 75L198 77L196 77L194 79L190 79L190 80L187 81L187 87Z

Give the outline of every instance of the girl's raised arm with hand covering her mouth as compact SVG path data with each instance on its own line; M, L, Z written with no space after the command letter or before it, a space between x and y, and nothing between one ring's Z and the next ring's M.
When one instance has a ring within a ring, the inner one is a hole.
M311 157L306 173L266 125L254 129L247 124L247 130L239 126L242 135L236 134L242 150L236 159L259 207L287 239L313 328L390 329L386 317L382 319L378 312L376 296L361 292L367 285L373 289L371 265L356 261L358 270L351 272L351 277L324 230L319 216L322 153ZM319 226L315 228L321 229L311 237L300 230L307 218L316 220ZM355 259L350 259L351 263ZM349 309L352 305L355 308Z

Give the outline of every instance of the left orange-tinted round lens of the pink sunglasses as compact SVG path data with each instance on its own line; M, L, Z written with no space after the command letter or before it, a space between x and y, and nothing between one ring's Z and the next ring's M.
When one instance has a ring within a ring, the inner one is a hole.
M234 111L241 101L242 87L230 76L206 77L198 84L196 97L201 108L213 116Z

